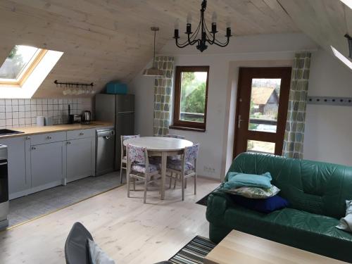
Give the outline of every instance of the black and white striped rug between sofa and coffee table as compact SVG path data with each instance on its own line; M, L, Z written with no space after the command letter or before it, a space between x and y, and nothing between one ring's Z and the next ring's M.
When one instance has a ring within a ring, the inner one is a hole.
M214 249L216 244L205 237L196 236L186 246L170 258L175 264L202 264L208 253Z

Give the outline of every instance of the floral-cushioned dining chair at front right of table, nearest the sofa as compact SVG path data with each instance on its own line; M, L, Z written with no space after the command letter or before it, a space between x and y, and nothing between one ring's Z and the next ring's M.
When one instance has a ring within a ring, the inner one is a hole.
M197 180L197 158L199 154L199 144L194 144L193 146L188 146L184 148L184 153L181 159L174 159L168 161L166 164L166 171L170 172L170 187L172 180L181 181L182 187L182 201L184 201L184 189L186 188L187 179L189 177L194 177L194 194L196 194L196 180ZM175 173L175 177L173 174Z

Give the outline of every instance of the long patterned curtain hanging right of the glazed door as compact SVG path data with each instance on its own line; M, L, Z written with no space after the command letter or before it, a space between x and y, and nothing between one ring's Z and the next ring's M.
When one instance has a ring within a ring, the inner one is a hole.
M289 158L303 158L309 68L310 53L296 54L291 73L289 108L282 150L282 156Z

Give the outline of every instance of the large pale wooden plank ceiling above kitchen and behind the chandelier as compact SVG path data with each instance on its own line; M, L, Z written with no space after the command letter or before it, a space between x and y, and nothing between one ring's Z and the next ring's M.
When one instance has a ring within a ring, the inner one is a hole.
M152 58L151 26L161 27L157 50L172 39L175 20L199 19L201 0L0 0L0 61L15 44L63 51L34 97L62 96L54 80L129 82ZM227 18L237 36L297 32L276 0L209 0L207 19Z

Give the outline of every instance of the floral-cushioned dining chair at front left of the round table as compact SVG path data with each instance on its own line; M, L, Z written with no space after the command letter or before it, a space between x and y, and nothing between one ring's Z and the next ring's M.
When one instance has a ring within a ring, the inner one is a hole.
M158 177L155 177L158 176ZM144 180L144 203L146 203L147 185L161 178L159 166L149 162L148 151L140 146L127 145L127 197L130 197L130 182L133 180L136 191L136 180Z

